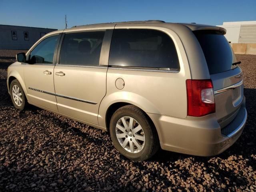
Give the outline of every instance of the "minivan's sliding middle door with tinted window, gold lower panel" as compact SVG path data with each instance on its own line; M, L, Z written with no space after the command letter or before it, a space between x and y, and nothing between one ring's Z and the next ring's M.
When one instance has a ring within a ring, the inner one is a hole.
M59 112L92 124L98 124L98 108L106 94L108 68L99 64L104 34L66 33L54 68Z

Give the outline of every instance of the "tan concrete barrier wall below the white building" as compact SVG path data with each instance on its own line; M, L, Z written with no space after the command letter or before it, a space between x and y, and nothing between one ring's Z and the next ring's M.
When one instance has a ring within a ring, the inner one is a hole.
M256 43L230 43L235 54L256 55Z

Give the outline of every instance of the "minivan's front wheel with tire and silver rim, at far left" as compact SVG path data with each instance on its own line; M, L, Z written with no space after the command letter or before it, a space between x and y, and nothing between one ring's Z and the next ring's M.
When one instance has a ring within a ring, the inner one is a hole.
M13 88L14 88L14 90L13 90ZM18 98L16 98L16 100L14 100L15 90L18 92L18 94L21 94L20 97L21 97L22 101L19 100ZM20 83L16 79L14 79L10 84L10 95L11 95L12 104L14 105L14 107L18 110L24 110L25 106L27 105L27 99L26 99L26 96L25 96L24 91L22 89L22 86L20 85ZM16 103L17 101L18 101L18 103Z

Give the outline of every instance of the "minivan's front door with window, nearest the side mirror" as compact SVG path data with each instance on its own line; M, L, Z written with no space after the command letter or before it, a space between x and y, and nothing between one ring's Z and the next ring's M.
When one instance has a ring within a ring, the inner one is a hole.
M24 79L29 102L58 111L54 91L54 64L59 35L45 38L30 51L24 66Z

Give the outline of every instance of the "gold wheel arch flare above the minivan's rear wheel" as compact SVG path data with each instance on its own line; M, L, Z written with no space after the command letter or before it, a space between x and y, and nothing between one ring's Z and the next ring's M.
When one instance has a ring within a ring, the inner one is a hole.
M118 91L106 95L101 101L98 113L98 123L100 126L106 127L105 119L107 110L112 104L117 102L126 102L133 104L146 113L160 114L158 108L156 108L156 106L148 99L133 92Z

